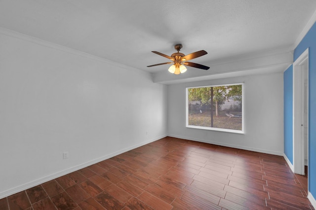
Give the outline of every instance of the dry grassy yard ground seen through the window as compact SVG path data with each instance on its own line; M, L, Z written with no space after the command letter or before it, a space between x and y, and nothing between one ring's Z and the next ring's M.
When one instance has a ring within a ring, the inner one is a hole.
M213 127L224 128L241 131L242 121L241 117L228 117L225 111L220 111L219 116L213 114ZM231 112L231 114L241 114L240 112ZM203 111L202 113L189 114L189 125L211 127L211 111Z

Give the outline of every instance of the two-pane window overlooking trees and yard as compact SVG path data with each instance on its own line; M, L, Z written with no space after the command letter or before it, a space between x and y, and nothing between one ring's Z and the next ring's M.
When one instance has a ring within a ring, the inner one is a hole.
M243 133L242 84L187 88L187 127Z

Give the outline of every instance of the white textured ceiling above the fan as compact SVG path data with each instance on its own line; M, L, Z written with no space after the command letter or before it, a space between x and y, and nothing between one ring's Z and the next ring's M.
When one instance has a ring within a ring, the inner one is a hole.
M158 73L152 53L205 50L211 66L240 55L292 50L316 0L0 0L0 27ZM188 68L189 70L198 70Z

